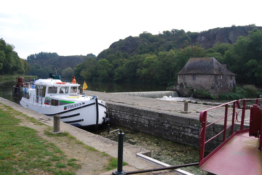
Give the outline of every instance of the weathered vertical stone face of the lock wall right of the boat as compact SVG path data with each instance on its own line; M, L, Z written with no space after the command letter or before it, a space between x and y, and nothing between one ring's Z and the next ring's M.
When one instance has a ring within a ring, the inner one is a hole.
M143 133L159 136L174 142L199 148L201 123L190 117L167 114L159 110L146 110L136 107L107 103L111 123ZM179 114L179 113L178 113ZM207 128L206 138L211 138L223 130L223 125ZM206 145L206 151L212 151L222 142L222 136Z

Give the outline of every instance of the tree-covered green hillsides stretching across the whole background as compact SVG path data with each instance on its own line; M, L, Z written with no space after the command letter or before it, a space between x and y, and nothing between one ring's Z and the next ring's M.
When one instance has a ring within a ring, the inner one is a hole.
M220 30L220 29L213 29ZM215 43L204 49L195 42L198 32L172 29L158 35L148 32L138 37L119 39L99 55L92 53L59 56L57 53L31 54L20 59L14 46L0 39L0 74L21 74L49 77L55 66L62 77L72 75L85 80L117 81L172 85L177 73L190 58L214 57L237 74L237 84L262 82L262 30L253 28L247 36L239 36L235 43Z

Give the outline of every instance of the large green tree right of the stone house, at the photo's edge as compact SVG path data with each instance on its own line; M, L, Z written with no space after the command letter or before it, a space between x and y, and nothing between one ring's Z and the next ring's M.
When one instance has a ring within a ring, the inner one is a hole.
M224 55L228 69L237 74L242 84L260 85L262 82L262 31L253 29L247 37L240 36Z

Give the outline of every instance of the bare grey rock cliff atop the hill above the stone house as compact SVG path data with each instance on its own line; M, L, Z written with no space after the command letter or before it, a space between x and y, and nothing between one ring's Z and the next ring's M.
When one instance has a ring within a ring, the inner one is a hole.
M249 31L252 31L254 28L257 28L258 30L262 29L262 27L251 26L232 26L216 30L211 29L209 31L199 33L195 43L200 43L204 49L212 48L217 42L234 44L237 42L237 37L248 36Z

